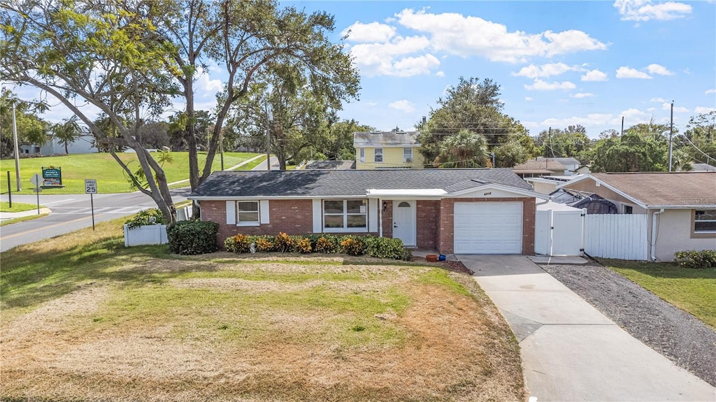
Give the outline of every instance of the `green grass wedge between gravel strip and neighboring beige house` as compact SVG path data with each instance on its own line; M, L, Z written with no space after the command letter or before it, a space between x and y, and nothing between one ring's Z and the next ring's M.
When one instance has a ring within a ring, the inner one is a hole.
M682 268L675 263L601 258L599 262L716 328L716 268Z

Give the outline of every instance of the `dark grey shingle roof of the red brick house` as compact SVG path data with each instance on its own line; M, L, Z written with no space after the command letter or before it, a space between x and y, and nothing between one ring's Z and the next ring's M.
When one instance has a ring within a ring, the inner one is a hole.
M473 182L470 187L465 182ZM213 172L189 197L330 197L365 195L368 189L435 189L448 192L494 183L532 191L501 169L296 170Z

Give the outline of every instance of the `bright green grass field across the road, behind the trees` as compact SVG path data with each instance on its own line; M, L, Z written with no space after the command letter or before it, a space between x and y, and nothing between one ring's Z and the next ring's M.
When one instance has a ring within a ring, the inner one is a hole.
M139 162L137 155L132 153L117 154L122 162L129 165L130 169L137 170ZM199 165L203 166L205 161L205 152L199 153ZM228 169L240 162L251 159L258 154L248 152L224 152L224 167ZM167 175L168 182L177 182L189 178L189 162L188 152L172 152L173 161L165 163L163 166ZM256 165L258 165L257 161ZM241 167L241 170L248 170L253 165ZM253 166L256 166L253 165ZM61 157L37 157L25 158L20 160L20 176L21 188L20 194L33 194L32 183L29 182L30 177L35 173L42 175L42 167L61 167L62 168L62 188L45 189L43 194L83 194L84 180L97 180L97 191L100 193L113 192L132 192L124 172L119 164L107 153L102 154L82 154L82 155L66 155ZM212 170L220 170L221 162L218 155L214 157ZM14 160L0 160L0 191L7 190L7 175L10 172L11 188L16 189L15 184L15 162ZM13 191L15 192L15 191Z

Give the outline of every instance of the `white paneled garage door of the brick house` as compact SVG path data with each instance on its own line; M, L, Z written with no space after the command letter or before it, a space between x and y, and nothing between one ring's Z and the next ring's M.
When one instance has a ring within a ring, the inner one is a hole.
M522 202L455 202L455 254L521 254Z

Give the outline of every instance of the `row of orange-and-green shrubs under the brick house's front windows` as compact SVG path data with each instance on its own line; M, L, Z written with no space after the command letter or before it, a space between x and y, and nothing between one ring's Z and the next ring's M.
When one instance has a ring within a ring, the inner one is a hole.
M224 240L224 247L231 253L344 253L349 255L370 255L377 258L393 258L410 261L410 250L403 247L402 240L374 236L306 235L289 236L279 232L276 236L235 235Z

